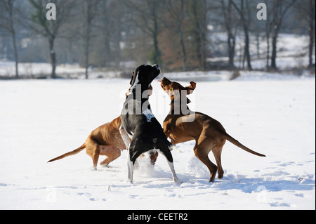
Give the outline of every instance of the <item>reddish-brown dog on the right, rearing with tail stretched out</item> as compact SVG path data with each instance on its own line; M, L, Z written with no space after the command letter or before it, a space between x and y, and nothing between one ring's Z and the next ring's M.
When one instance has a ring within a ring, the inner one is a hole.
M250 150L228 135L220 122L205 114L190 111L186 105L190 103L190 100L187 99L186 95L191 94L195 90L195 82L192 81L190 86L183 87L177 82L171 82L169 79L164 78L161 81L161 86L171 99L171 111L164 120L164 133L167 138L171 138L173 145L189 140L196 141L194 147L195 156L209 168L211 172L210 182L213 182L217 171L218 178L223 178L224 171L220 162L220 155L226 140L246 152L265 157L264 154ZM181 93L184 94L181 95ZM180 108L184 108L189 113L183 114L183 110L180 110ZM208 154L210 151L213 152L218 166L209 160Z

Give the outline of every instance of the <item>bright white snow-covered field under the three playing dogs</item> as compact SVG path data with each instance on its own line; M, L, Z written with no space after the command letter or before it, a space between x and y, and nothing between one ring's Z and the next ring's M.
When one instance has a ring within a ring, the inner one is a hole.
M150 103L162 122L170 102L153 86ZM133 184L126 151L98 171L85 151L47 164L118 117L127 88L127 79L0 81L0 209L315 209L315 76L242 73L235 81L197 82L191 109L267 155L227 142L224 178L214 183L194 142L172 152L180 184L162 156L154 168L139 159Z

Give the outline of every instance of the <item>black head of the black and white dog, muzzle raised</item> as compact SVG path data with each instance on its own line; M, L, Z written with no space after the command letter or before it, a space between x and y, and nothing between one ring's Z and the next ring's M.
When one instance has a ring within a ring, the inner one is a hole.
M149 89L150 84L159 74L160 68L158 65L140 65L140 67L133 72L129 91L133 91L137 85L141 86L142 92Z

